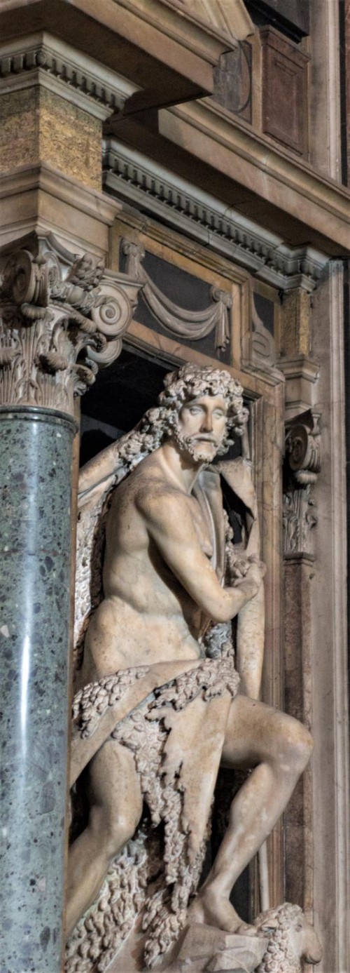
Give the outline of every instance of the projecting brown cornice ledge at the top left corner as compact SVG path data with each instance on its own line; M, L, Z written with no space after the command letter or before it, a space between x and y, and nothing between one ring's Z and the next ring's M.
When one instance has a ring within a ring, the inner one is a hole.
M157 104L164 104L164 89L177 101L211 92L213 65L234 43L179 0L3 0L4 41L25 36L34 25L68 43L74 38L80 51L141 84L150 97L156 69Z

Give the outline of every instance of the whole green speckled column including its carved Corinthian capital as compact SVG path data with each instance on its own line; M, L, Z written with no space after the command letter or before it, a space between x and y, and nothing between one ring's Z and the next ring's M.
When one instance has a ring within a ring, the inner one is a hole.
M74 397L118 356L140 285L53 236L0 260L2 962L59 973Z

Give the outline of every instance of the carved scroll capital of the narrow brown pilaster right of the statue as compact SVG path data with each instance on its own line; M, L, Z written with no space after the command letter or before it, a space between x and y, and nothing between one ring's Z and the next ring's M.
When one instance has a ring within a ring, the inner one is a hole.
M317 523L311 493L321 469L320 414L312 409L286 424L286 459L283 494L285 557L312 557L311 529Z

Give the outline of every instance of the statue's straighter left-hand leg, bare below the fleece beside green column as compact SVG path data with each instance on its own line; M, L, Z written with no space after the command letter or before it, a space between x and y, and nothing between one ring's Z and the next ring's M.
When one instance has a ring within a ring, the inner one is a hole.
M88 827L69 851L67 936L96 897L113 858L132 838L143 798L132 754L108 739L88 768Z

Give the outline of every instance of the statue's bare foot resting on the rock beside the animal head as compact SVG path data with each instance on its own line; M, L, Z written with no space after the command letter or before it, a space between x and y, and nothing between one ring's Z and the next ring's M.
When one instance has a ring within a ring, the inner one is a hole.
M243 922L225 895L218 894L209 885L195 897L189 909L190 922L214 925L225 932L235 932L238 936L257 936L254 925Z

